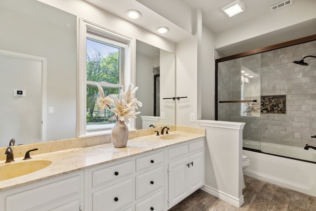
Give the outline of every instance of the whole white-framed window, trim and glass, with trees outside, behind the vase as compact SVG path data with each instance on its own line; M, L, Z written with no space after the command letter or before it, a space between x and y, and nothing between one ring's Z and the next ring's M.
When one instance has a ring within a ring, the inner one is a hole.
M131 82L131 38L80 20L79 33L79 136L110 132L113 113L99 112L97 83L104 95L119 94ZM135 41L134 41L135 42Z

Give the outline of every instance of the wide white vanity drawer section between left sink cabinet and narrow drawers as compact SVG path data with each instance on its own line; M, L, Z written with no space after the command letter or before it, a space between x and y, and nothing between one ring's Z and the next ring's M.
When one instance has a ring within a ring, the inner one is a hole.
M85 211L133 211L134 159L85 170Z

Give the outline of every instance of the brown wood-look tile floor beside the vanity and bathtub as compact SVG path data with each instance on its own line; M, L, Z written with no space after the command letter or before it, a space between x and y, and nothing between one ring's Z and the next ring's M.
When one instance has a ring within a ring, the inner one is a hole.
M199 189L169 211L316 211L316 197L249 176L245 184L240 208Z

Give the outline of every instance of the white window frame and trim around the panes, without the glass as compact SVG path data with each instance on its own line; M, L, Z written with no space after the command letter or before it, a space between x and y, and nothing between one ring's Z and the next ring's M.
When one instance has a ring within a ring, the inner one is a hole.
M122 64L120 65L119 84L109 84L98 82L101 86L119 87L125 90L129 83L135 84L135 58L136 58L136 40L107 29L98 24L79 18L79 44L78 44L78 82L77 83L77 137L87 137L102 134L110 134L112 128L87 130L86 129L86 86L87 84L96 85L96 82L87 82L86 80L86 39L111 43L120 46L123 52L120 54ZM135 120L131 119L127 124L130 130L135 128Z

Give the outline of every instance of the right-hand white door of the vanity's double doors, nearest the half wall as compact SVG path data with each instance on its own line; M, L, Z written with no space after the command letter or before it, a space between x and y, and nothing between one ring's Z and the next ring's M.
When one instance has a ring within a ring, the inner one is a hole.
M196 191L204 184L204 154L198 152L189 156L190 168L188 170L189 193Z

